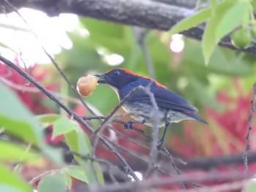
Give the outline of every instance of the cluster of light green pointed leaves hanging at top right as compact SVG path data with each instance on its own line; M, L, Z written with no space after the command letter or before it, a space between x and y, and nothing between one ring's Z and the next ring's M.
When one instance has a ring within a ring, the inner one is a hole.
M185 18L176 26L173 26L170 34L187 30L207 20L202 37L202 47L205 62L208 64L214 53L214 48L223 37L240 26L242 28L253 28L255 26L252 6L253 2L246 0L223 0L218 2L213 0L211 6L200 9L191 17ZM244 37L240 38L243 39ZM249 40L249 44L251 41L252 39Z

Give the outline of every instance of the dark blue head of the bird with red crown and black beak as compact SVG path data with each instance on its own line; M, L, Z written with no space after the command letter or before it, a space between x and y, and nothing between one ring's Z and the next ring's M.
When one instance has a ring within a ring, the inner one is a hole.
M112 69L104 74L94 74L99 77L98 83L110 85L110 87L121 89L129 82L138 80L138 75L127 69Z

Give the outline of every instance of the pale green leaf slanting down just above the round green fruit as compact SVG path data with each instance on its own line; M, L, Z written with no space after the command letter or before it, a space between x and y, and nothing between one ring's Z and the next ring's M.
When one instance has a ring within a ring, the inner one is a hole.
M233 4L230 9L225 10L225 14L222 16L222 20L220 20L215 31L215 42L218 43L222 37L238 26L244 15L248 14L248 11L249 3L247 1L239 1Z

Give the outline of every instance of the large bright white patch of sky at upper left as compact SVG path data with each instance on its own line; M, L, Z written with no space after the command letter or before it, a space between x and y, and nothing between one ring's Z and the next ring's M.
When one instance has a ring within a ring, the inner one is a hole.
M50 59L42 46L50 55L60 53L61 47L72 47L66 31L72 31L78 26L77 15L61 14L49 18L44 12L33 9L22 8L19 12L27 24L15 12L0 15L0 42L5 45L5 48L0 49L2 55L10 55L7 50L12 50L16 55L21 55L26 66L34 63L48 64Z

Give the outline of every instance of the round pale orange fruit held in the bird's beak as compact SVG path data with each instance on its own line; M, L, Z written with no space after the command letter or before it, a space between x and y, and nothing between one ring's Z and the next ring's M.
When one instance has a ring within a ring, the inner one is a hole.
M91 74L80 77L77 83L77 91L81 96L89 96L97 86L98 77Z

